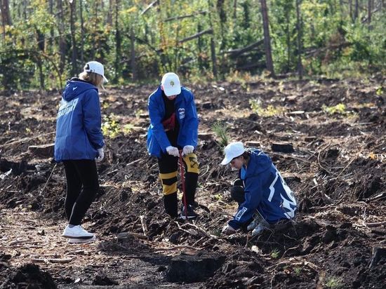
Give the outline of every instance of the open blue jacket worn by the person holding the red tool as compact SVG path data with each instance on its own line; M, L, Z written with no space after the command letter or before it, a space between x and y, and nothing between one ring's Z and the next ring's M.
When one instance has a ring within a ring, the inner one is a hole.
M182 86L181 93L175 98L174 107L175 119L180 124L177 145L197 147L199 119L192 91ZM166 112L161 86L149 96L147 109L149 109L150 118L150 126L147 130L147 152L152 156L160 157L161 152L166 153L166 147L171 145L162 126Z

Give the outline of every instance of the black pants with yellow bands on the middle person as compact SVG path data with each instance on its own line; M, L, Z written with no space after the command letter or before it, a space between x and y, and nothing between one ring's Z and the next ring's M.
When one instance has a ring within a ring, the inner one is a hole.
M188 154L183 157L185 167L185 196L188 205L194 204L197 182L199 180L199 163L196 154ZM177 170L179 159L170 154L162 154L158 158L159 177L161 179L162 191L164 192L165 211L171 217L178 216L177 199ZM184 200L182 199L182 202Z

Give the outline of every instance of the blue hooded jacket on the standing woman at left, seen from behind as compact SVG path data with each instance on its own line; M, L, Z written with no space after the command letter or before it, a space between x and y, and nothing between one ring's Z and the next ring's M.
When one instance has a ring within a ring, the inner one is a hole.
M67 81L56 119L55 161L95 159L103 141L98 88Z

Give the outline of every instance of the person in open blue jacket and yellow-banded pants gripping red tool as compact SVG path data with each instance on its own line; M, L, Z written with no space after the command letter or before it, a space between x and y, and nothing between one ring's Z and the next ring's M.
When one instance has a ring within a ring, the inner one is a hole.
M177 170L182 152L187 210L185 212L185 206L182 206L180 217L197 217L194 196L199 163L194 149L197 147L199 119L193 93L180 85L177 74L168 72L157 90L149 96L148 110L147 151L158 159L166 213L178 217Z

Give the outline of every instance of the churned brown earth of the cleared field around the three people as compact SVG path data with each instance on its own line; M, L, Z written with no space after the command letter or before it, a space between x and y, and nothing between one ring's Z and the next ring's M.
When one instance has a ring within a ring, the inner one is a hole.
M101 95L110 128L84 220L98 241L83 245L60 236L62 165L52 147L31 147L53 142L60 93L0 95L0 288L385 288L385 78L191 86L201 120L193 222L164 214L145 145L153 88ZM259 238L220 235L237 208L236 174L219 165L215 121L272 157L298 200L293 224Z

